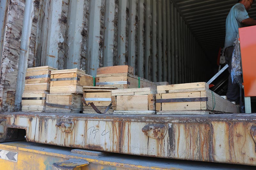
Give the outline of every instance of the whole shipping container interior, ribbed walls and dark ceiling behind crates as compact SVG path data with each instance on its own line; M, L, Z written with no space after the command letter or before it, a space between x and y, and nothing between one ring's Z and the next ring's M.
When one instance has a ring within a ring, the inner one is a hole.
M29 67L78 68L96 76L99 67L128 64L153 82L207 82L218 71L226 16L236 3L1 0L1 112L17 110Z

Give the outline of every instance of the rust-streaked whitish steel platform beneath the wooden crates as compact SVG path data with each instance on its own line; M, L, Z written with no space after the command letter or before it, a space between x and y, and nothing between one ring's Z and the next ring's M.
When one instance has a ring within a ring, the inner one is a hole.
M20 129L25 129L29 142L256 166L256 114L65 115L16 112L1 114L0 119L1 142L18 140Z

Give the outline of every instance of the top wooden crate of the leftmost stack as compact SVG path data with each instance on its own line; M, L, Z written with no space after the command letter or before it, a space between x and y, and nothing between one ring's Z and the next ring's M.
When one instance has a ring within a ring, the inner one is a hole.
M50 66L28 68L26 71L24 91L49 91L52 70L57 69Z

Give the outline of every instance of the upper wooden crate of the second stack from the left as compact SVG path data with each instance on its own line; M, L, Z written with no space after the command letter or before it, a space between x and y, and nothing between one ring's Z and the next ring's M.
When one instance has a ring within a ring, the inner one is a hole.
M93 86L93 77L84 70L68 69L51 72L50 93L83 94L83 86Z

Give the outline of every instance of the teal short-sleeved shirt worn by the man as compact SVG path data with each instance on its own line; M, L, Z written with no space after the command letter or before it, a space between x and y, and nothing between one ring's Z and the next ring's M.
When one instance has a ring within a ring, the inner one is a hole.
M229 46L233 46L238 34L238 28L244 27L244 24L241 22L247 18L249 18L249 15L243 4L237 3L230 9L226 19L226 38L224 50Z

